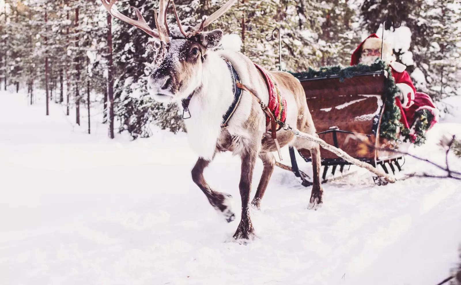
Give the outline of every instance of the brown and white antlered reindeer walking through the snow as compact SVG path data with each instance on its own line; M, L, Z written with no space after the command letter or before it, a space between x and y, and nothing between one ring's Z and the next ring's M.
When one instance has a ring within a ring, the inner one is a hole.
M170 0L171 1L171 0ZM254 228L250 219L250 192L254 165L259 156L263 162L263 172L256 194L251 205L260 209L260 202L274 170L277 150L276 141L268 136L266 114L261 105L268 103L267 83L254 63L242 53L216 50L223 36L222 30L205 32L203 29L223 15L236 2L229 0L201 24L183 26L172 2L178 26L169 29L166 23L166 12L170 1L160 0L159 13L154 10L157 29L151 29L135 8L137 20L131 19L112 9L115 0L102 0L106 10L115 18L136 26L154 37L149 42L156 51L154 56L155 70L148 77L148 93L159 102L188 101L184 106L190 114L184 123L187 137L199 159L192 169L192 179L207 196L210 204L223 214L227 222L235 219L230 200L231 195L213 190L203 177L204 169L219 152L231 151L240 155L242 160L239 183L242 199L241 220L233 238L237 241L254 238ZM234 103L236 83L226 61L230 62L241 79L241 99L227 123L221 128L224 114ZM306 97L300 82L291 74L282 71L267 71L278 84L287 105L286 123L296 125L303 132L317 136ZM262 102L262 103L261 103ZM317 209L322 205L322 186L320 185L320 152L319 145L297 138L292 132L281 129L277 131L280 146L295 146L297 149L308 149L312 154L313 188L308 208Z

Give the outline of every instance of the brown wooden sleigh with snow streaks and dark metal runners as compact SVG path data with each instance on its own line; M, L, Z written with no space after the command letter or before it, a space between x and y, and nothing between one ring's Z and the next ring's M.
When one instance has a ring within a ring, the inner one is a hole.
M384 71L356 73L351 78L344 78L342 82L337 75L300 79L300 82L321 139L358 160L382 167L386 173L389 173L388 167L393 173L396 170L401 171L399 160L402 159L402 154L378 150L384 145L384 140L379 137L387 84ZM354 134L368 137L376 149L364 147L360 141L352 138ZM298 152L304 160L311 161L308 150L302 149ZM334 175L338 166L339 171L343 172L344 166L350 165L323 148L320 148L320 154L324 182L329 169ZM302 179L303 185L311 185L305 174L299 171L294 148L290 148L290 158L295 175Z

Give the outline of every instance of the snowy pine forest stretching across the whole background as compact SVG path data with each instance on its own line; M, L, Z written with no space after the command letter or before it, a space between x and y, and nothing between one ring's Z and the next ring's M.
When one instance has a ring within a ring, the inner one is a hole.
M183 25L199 23L224 2L175 1ZM132 18L129 6L138 7L155 27L158 4L118 0L115 5ZM94 115L90 109L99 108L110 137L123 131L149 137L152 123L184 131L176 105L146 96L152 69L148 35L112 18L99 0L4 0L0 7L0 88L27 89L30 104L43 89L47 114L48 104L62 104L68 115L74 108L78 125L82 116ZM347 66L357 44L385 20L401 23L411 41L394 48L396 59L408 66L416 88L437 101L460 92L460 15L457 0L239 0L211 28L222 29L227 42L272 70L278 69L278 41L266 36L278 28L281 68L304 71ZM168 22L174 21L169 13Z

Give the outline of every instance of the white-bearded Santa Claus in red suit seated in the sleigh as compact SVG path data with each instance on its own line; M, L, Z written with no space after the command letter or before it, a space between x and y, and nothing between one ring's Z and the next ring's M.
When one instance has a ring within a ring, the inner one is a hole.
M415 112L428 109L434 115L431 122L432 127L438 120L437 108L429 95L416 92L408 72L405 71L407 66L394 61L392 46L389 42L383 42L376 34L368 36L352 53L350 65L359 63L371 65L376 59L381 58L381 55L384 63L391 67L392 77L394 77L396 86L400 91L396 97L396 104L402 112L402 124L409 128L408 123L413 125Z

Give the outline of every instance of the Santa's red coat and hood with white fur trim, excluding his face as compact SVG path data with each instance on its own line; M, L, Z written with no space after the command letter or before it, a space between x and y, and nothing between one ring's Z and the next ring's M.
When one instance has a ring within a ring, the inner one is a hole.
M376 34L372 34L368 36L366 39L368 38L378 38L378 36ZM357 65L359 63L359 59L362 53L362 47L366 39L363 42L361 42L359 46L355 49L354 53L352 53L350 65ZM391 54L388 54L387 56L390 55ZM384 57L385 55L383 54L383 58ZM434 103L432 102L429 95L421 92L416 92L416 88L414 88L414 85L411 82L410 75L407 71L405 71L407 66L396 61L390 61L389 65L391 67L392 77L394 77L396 86L403 95L402 102L398 98L396 98L396 104L402 112L401 121L403 125L409 128L408 123L413 123L414 113L416 111L419 111L420 109L430 110L431 113L434 115L434 120L431 122L431 126L435 124L438 120L438 110L434 106ZM417 98L416 100L415 97Z

